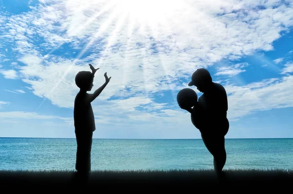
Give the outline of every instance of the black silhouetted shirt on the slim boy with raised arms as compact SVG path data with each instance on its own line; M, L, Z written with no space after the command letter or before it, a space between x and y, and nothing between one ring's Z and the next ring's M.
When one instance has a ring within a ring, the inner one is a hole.
M87 93L78 93L74 101L74 127L76 132L93 132L96 130L93 109Z

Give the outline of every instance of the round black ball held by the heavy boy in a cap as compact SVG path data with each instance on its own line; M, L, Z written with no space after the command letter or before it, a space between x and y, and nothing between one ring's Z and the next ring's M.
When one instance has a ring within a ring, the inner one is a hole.
M197 94L190 88L184 88L177 94L177 103L181 108L191 108L197 101Z

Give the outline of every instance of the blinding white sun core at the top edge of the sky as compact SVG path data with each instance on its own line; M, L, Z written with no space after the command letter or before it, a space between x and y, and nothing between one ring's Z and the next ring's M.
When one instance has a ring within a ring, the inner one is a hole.
M154 24L160 20L175 17L180 8L180 0L118 0L119 11L129 15L139 23Z

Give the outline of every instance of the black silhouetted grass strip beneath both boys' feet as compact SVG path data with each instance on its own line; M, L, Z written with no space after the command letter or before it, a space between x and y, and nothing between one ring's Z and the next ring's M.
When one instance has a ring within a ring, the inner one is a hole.
M212 169L189 170L94 170L86 181L76 179L76 172L71 170L14 171L0 170L1 191L21 188L42 191L49 189L99 188L107 191L122 191L123 188L143 192L147 189L163 188L163 191L187 190L188 188L238 187L237 192L248 188L260 187L290 189L293 183L293 169L225 169L218 178ZM85 187L86 186L86 187Z

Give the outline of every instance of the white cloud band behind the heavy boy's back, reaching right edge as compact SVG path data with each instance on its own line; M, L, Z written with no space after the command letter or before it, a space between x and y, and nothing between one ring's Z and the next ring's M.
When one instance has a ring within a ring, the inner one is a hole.
M265 79L245 86L226 85L228 117L232 120L256 111L293 106L293 76Z

